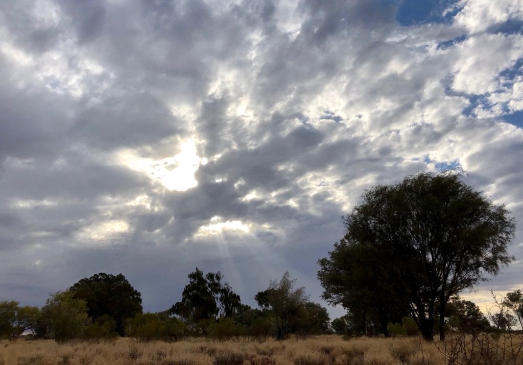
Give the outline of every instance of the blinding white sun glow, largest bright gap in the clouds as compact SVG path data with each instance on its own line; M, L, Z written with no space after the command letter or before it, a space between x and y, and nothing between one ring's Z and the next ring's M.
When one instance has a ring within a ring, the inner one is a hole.
M142 158L132 150L122 150L116 159L119 164L146 173L170 191L186 191L198 185L195 172L202 159L197 155L193 138L183 142L180 150L179 154L160 160Z

